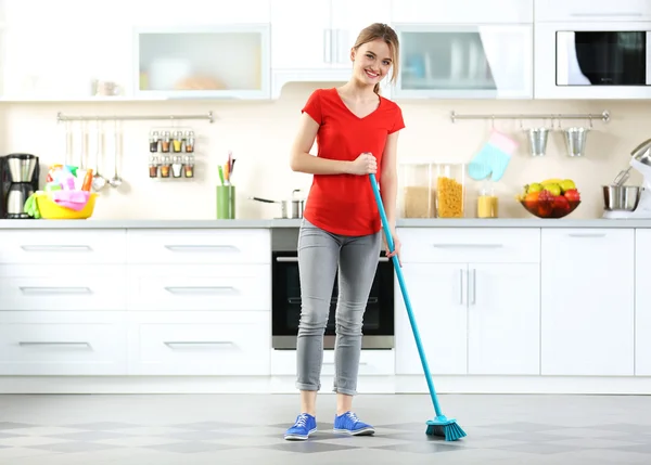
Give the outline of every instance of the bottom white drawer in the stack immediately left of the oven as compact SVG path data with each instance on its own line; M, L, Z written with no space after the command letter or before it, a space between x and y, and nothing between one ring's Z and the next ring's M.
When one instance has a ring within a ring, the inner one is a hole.
M270 333L267 312L229 313L224 319L188 317L140 322L132 333L137 336L130 372L135 375L268 375Z

